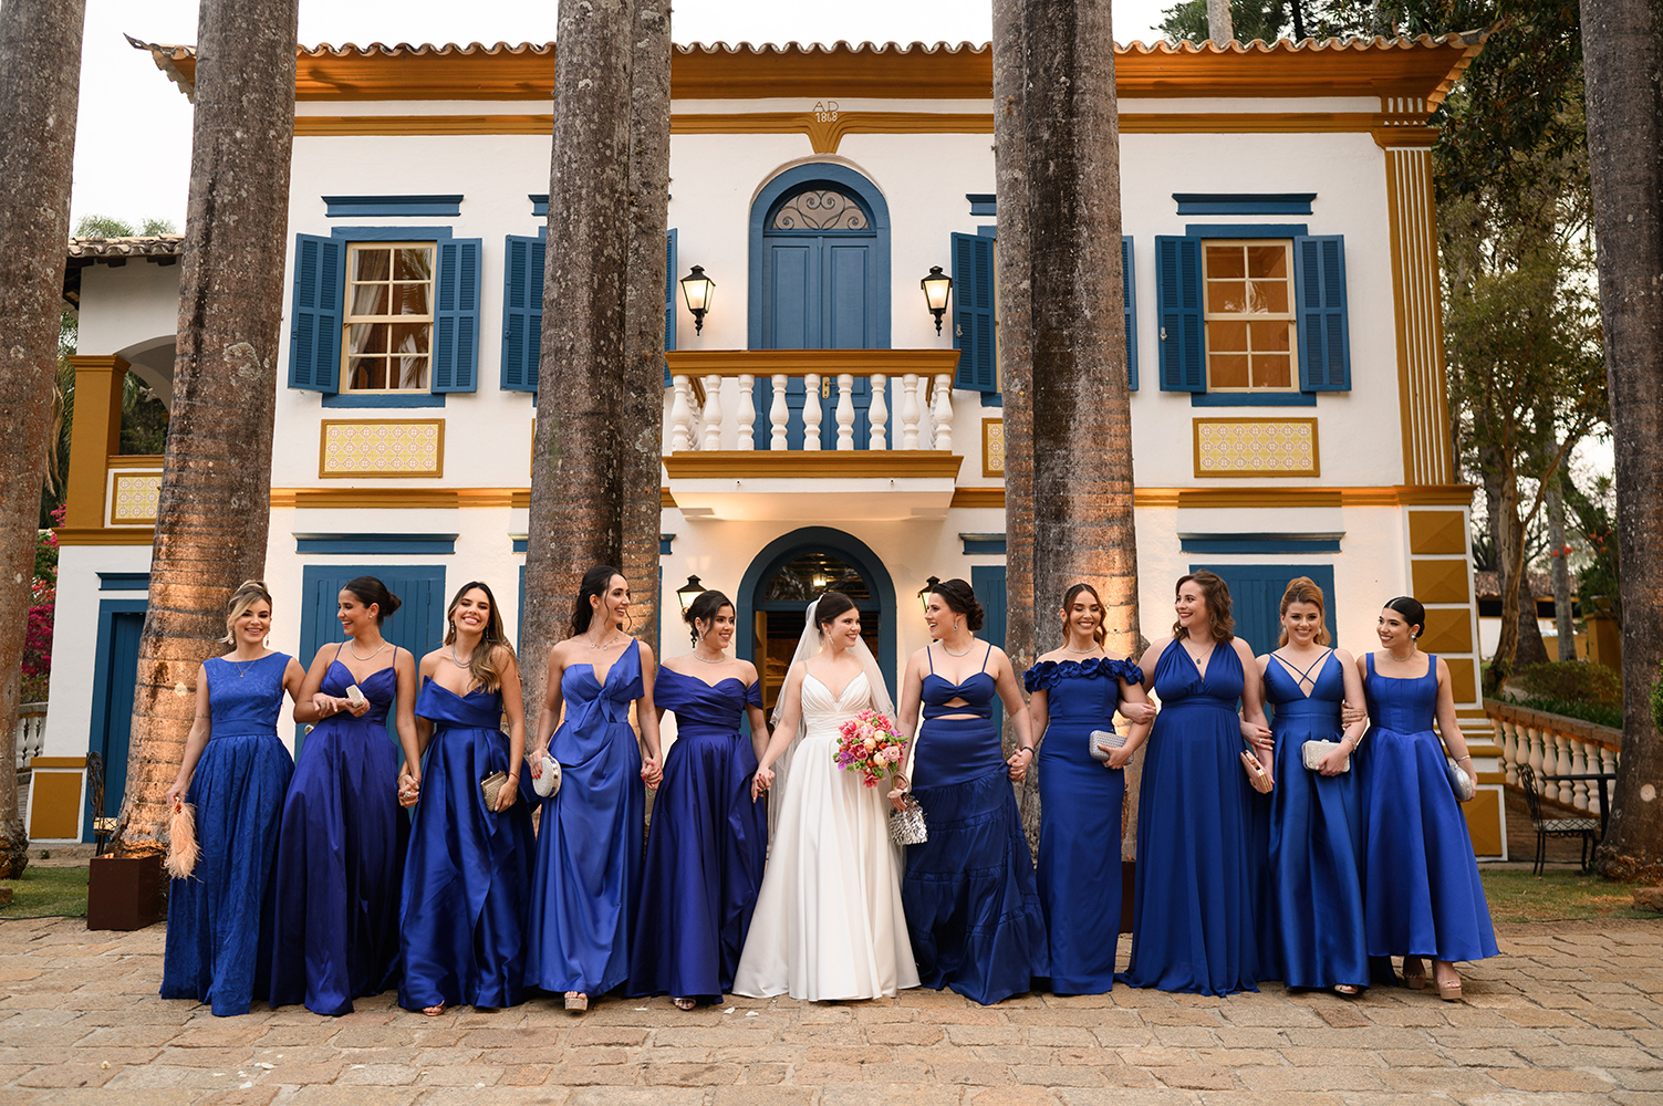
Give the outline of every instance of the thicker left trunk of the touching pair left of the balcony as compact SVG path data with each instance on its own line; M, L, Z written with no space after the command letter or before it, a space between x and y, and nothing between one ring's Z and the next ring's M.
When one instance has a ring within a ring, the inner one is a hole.
M554 72L549 251L526 547L526 702L584 572L622 560L629 120L634 3L564 0ZM640 584L635 584L637 587Z

